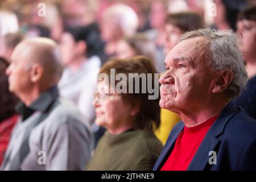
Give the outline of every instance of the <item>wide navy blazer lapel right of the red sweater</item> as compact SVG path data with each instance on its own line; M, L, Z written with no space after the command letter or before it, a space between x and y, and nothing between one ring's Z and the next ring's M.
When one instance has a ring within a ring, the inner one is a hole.
M221 112L220 117L210 127L208 133L205 135L203 142L200 144L195 156L187 170L189 171L201 171L205 169L205 166L209 162L209 152L215 151L217 153L217 144L220 143L218 137L224 132L225 126L229 119L232 118L238 109L234 106L233 102L230 102L224 110Z

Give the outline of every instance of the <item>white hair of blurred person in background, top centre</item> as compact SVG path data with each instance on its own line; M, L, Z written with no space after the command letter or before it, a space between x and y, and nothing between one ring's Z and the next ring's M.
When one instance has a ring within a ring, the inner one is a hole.
M134 35L139 26L139 19L135 11L123 4L110 6L105 10L104 18L117 23L122 28L125 36Z

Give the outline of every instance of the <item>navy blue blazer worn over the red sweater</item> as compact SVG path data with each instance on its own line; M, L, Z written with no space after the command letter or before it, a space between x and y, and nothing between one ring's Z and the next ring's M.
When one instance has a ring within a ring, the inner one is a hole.
M174 126L154 171L163 167L183 130L182 121ZM216 152L216 164L211 163L210 151ZM256 170L256 120L230 102L210 127L187 170Z

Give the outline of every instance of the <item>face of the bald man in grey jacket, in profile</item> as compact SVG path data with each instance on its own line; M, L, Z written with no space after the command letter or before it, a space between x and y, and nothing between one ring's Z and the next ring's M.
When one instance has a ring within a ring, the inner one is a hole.
M29 62L30 48L19 46L11 55L11 64L6 69L9 76L9 90L19 95L31 88L31 72Z

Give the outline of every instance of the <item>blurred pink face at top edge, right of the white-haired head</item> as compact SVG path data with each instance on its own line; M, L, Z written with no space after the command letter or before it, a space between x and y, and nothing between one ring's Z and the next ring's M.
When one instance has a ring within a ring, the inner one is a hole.
M167 8L160 1L152 2L150 24L152 28L163 28L167 16Z

